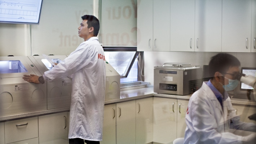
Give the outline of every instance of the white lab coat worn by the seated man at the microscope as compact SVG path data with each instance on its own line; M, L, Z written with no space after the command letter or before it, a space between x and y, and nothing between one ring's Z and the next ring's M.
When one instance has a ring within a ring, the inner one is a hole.
M254 123L240 122L228 94L220 102L206 82L189 100L184 144L241 144L242 136L229 129L255 131Z

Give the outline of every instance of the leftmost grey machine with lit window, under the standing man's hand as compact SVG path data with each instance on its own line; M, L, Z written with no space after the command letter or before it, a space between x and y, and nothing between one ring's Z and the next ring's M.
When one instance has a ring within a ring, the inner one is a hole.
M0 116L47 109L47 85L22 79L30 74L42 76L28 57L0 57Z

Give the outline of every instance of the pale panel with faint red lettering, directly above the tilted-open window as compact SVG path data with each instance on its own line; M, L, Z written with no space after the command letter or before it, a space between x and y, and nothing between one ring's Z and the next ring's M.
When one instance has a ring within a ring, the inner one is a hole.
M137 45L137 0L102 0L103 46Z

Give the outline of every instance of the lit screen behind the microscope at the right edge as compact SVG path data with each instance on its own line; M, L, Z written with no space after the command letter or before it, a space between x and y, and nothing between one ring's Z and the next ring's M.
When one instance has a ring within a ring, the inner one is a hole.
M256 68L249 68L249 67L242 67L241 73L244 73L245 75L252 75L256 77ZM243 82L240 82L240 90L253 90L253 87L244 84Z

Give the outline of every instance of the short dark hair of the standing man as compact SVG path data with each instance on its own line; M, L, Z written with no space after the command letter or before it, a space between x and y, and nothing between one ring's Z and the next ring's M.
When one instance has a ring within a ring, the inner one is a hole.
M93 27L93 36L97 36L100 30L100 21L94 15L84 15L81 18L87 20L88 28Z

